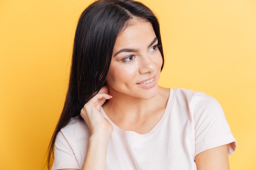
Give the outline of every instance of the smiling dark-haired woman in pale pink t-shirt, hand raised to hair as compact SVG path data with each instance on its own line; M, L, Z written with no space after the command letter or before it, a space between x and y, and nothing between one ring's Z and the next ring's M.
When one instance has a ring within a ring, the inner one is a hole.
M82 13L67 97L49 147L53 170L228 170L236 141L204 93L159 87L155 15L132 0Z

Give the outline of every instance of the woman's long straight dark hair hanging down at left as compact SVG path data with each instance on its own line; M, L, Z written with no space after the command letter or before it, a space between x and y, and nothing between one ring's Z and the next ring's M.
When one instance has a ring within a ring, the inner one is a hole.
M153 12L133 0L98 0L81 14L74 38L70 81L61 117L49 144L47 168L54 157L54 142L58 132L106 84L112 51L119 32L133 17L151 22L162 45L159 23ZM162 48L159 48L164 61ZM163 62L164 65L164 62ZM162 65L162 68L163 68Z

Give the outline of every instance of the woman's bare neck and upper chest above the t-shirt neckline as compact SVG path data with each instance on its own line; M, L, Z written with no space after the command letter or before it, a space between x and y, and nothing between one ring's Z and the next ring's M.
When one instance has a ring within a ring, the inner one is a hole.
M143 99L124 94L117 95L110 90L113 98L103 105L103 109L110 120L122 130L145 134L161 119L169 94L169 89L159 87L156 95Z

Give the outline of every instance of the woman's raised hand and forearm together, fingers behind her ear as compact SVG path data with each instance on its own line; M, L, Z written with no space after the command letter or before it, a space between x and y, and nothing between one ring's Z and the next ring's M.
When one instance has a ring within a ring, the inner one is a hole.
M82 170L104 170L106 168L108 141L113 126L110 121L103 117L100 108L107 99L111 98L112 96L108 94L108 87L104 86L81 109L80 115L91 130Z

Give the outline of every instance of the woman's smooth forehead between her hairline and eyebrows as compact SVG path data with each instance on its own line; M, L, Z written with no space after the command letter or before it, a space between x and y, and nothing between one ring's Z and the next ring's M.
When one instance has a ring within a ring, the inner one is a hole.
M150 22L141 18L132 18L125 28L117 36L114 50L117 48L128 48L132 44L149 43L156 37ZM147 44L148 45L148 44Z

